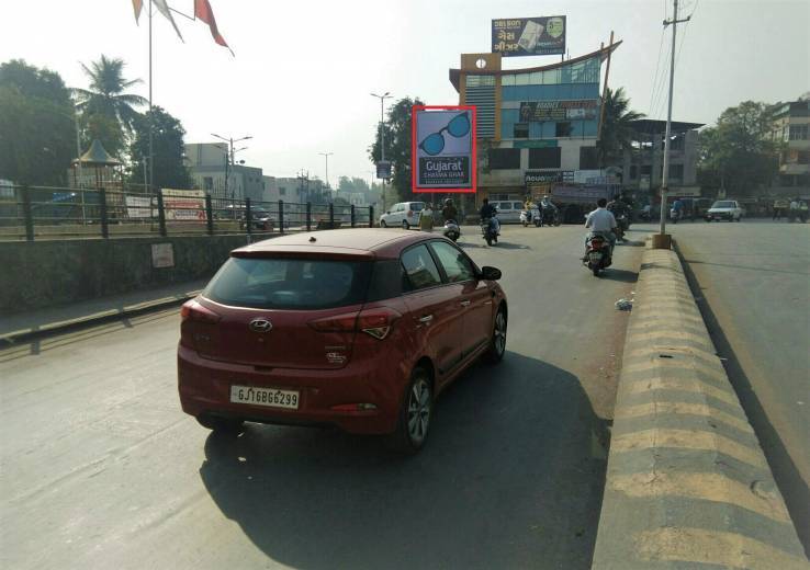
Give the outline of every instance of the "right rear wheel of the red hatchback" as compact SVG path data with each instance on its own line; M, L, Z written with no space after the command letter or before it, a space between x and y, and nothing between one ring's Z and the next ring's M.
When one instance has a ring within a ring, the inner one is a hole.
M410 373L400 406L396 430L391 434L391 447L405 455L414 455L425 446L434 415L434 388L430 374L417 366Z

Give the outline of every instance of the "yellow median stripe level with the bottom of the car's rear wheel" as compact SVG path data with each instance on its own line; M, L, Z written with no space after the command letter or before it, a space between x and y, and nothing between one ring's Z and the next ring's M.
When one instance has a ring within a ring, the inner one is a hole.
M758 448L743 445L719 433L700 430L651 428L649 430L614 435L610 441L610 453L655 447L699 449L705 452L716 451L733 457L738 461L749 464L757 469L766 469L769 472L765 456Z

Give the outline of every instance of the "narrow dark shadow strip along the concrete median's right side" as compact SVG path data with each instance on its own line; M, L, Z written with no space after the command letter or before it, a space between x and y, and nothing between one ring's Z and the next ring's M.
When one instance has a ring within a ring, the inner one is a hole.
M683 255L682 261L685 262L683 263L684 273L686 274L693 295L696 298L702 297L700 294L700 283L689 266L691 263L699 262L685 260ZM745 269L736 265L734 267ZM765 457L774 474L776 485L785 498L785 503L796 526L799 540L805 546L805 554L810 557L810 489L808 489L801 477L801 472L799 472L796 464L790 458L790 454L779 437L778 432L768 420L765 408L760 401L743 367L740 365L740 361L736 354L734 354L731 343L727 339L711 307L708 303L698 303L697 305L706 321L706 327L709 330L718 354L727 358L725 372L736 391L738 398L740 398L743 410L745 410L745 415L747 415L751 425L754 428L754 432L760 438L760 445L765 452Z

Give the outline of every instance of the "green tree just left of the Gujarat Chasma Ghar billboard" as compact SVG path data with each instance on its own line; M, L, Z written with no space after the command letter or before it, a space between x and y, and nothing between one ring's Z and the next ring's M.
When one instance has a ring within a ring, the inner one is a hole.
M413 197L410 192L410 107L423 104L418 99L404 98L389 109L385 122L385 160L390 160L393 166L391 185L395 194L393 197L386 196L389 205ZM378 125L374 142L369 148L372 162L378 162L382 158L381 134L381 127Z

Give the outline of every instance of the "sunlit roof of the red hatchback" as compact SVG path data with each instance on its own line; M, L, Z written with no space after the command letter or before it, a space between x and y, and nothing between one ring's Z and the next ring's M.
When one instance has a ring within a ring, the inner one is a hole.
M437 238L439 236L418 231L376 228L302 231L238 248L232 252L232 255L326 253L340 256L397 258L403 249L431 237Z

